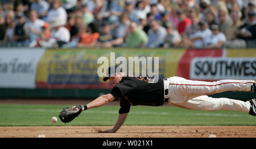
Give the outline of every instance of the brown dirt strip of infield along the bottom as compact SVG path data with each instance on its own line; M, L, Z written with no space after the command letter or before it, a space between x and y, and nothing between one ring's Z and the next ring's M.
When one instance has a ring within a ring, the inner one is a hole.
M117 133L98 133L111 126L0 127L0 137L38 138L255 138L255 126L122 126Z

